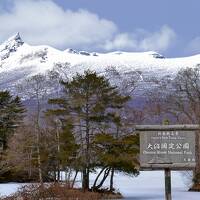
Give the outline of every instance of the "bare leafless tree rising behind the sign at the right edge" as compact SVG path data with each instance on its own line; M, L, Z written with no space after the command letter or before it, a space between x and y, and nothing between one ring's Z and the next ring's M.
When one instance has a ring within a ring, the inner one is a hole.
M200 65L182 69L174 79L165 77L159 87L149 94L149 116L157 115L173 123L200 124ZM200 188L200 136L196 138L196 169L194 170L193 189Z

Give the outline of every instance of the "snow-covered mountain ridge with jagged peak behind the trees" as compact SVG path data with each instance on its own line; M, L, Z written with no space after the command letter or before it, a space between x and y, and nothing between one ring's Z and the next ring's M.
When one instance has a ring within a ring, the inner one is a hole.
M73 49L60 51L46 45L29 45L23 42L17 33L0 45L0 87L14 90L24 79L36 74L45 74L59 67L65 71L68 78L77 72L83 73L90 69L100 74L107 74L111 82L132 79L137 74L140 79L140 90L143 90L150 86L148 80L151 78L174 76L180 68L194 67L197 64L200 64L200 55L165 58L152 51L142 53L120 51L89 53ZM111 72L117 73L118 76L113 76Z

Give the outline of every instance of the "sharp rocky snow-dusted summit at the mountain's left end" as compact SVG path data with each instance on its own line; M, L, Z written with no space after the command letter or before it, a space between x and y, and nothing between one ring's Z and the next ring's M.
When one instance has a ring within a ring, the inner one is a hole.
M17 51L17 48L22 46L24 42L19 33L11 36L3 44L0 45L0 60L4 60L10 56L12 52Z

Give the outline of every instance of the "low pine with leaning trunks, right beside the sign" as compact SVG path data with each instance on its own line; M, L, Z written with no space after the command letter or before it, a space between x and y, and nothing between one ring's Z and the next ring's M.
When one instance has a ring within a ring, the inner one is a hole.
M97 155L99 167L102 168L94 181L93 190L100 189L111 172L110 191L112 192L114 190L114 170L131 176L139 174L138 135L126 135L116 138L110 134L98 134L95 136L93 148ZM97 185L97 181L103 172L103 178Z

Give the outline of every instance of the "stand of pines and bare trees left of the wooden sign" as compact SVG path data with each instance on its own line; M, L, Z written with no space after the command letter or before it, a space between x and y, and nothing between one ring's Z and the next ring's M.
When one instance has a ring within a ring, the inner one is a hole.
M0 94L1 179L41 185L64 180L73 187L81 173L84 190L99 190L110 177L109 190L114 191L115 172L138 175L138 136L130 135L123 121L130 97L95 72L61 80L59 93L49 98L55 82L36 75L19 87L35 102L31 112L19 97L7 91ZM98 173L90 188L94 171Z

